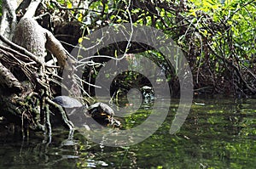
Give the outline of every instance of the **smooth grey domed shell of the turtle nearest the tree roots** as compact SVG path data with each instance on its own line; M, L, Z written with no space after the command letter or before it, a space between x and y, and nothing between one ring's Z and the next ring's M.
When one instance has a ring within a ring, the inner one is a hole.
M54 99L52 99L56 104L60 104L61 107L64 108L78 108L82 107L83 104L79 102L77 99L73 99L68 96L57 96Z

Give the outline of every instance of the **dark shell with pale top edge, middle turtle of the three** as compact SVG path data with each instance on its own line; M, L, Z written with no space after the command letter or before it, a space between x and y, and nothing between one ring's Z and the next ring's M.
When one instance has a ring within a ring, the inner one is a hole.
M108 104L103 104L103 103L96 103L96 104L92 104L88 107L88 111L91 114L95 114L98 113L99 115L114 115L113 109L111 107L109 107Z

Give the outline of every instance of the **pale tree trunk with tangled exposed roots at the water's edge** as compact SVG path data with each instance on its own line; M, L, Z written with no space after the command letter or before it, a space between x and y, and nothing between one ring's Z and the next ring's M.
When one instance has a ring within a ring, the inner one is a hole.
M8 6L3 6L3 14L15 15L15 8L9 8L10 3L4 0ZM16 124L37 128L45 132L51 132L49 121L50 107L59 107L62 121L72 129L72 122L67 120L64 110L51 102L53 86L60 86L60 79L56 79L65 68L69 75L74 73L74 60L62 47L53 34L38 25L32 17L41 1L32 0L26 10L26 14L15 26L13 42L6 37L12 37L12 31L6 31L0 38L2 42L11 48L0 45L0 116ZM12 18L11 21L13 21ZM11 24L14 24L11 22ZM10 26L11 30L14 26ZM1 26L1 30L3 27ZM9 35L9 36L7 36ZM11 35L11 36L10 36ZM12 49L14 48L14 49ZM44 57L49 51L57 59L58 67L46 65ZM59 72L58 74L52 71ZM74 77L70 76L72 87L77 87ZM58 82L59 81L59 82ZM79 93L70 93L78 96Z

